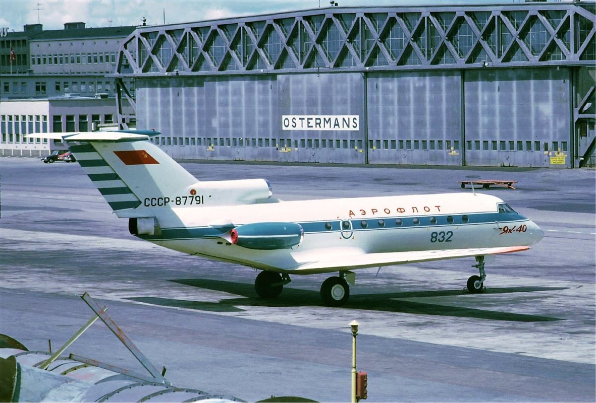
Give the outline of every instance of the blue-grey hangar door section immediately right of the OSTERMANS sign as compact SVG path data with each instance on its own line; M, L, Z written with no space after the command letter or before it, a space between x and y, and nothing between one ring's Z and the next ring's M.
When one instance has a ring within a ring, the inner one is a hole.
M371 164L461 165L460 71L367 74Z

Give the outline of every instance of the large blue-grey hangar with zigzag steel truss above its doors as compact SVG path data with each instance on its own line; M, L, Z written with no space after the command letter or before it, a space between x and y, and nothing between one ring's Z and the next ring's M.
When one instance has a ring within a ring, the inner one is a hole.
M593 164L595 9L331 7L139 26L117 58L118 122L164 133L176 158ZM328 116L358 125L318 130Z

